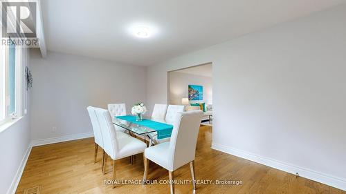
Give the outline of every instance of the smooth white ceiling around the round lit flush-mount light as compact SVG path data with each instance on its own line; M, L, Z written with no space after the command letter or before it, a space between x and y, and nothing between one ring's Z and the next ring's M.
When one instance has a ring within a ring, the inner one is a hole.
M344 0L42 1L48 50L150 66ZM131 25L156 30L139 39Z

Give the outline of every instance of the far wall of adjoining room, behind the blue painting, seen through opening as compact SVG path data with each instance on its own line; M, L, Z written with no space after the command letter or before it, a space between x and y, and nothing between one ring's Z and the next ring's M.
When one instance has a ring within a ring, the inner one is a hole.
M181 99L188 97L188 86L203 86L203 100L193 100L190 103L205 102L212 104L212 78L192 75L183 72L170 72L170 104L181 104Z

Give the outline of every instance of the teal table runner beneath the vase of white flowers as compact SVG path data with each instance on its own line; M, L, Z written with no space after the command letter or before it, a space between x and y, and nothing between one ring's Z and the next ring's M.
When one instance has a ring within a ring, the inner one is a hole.
M149 128L152 128L154 130L157 130L157 139L163 139L167 137L171 137L173 126L170 124L164 124L160 122L154 122L149 119L143 119L140 122L136 121L136 116L132 115L125 115L125 116L118 116L118 119L125 120L127 122L132 122L134 124L140 124L142 126L146 126Z

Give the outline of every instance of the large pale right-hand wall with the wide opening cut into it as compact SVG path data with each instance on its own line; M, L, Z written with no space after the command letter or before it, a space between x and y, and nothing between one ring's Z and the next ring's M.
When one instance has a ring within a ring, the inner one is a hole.
M167 71L212 62L213 147L346 190L346 6L148 69L147 101Z

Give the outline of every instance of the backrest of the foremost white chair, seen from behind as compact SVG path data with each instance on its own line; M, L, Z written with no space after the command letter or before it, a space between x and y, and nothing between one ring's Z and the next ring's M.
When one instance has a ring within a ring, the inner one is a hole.
M202 117L202 110L176 113L168 156L168 166L172 171L194 160Z

